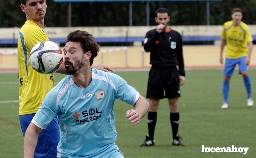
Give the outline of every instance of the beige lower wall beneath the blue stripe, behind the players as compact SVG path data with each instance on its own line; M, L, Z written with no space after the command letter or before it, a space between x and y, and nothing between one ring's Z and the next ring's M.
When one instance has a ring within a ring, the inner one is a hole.
M101 53L102 51L109 49L113 49L113 47L102 47L100 53L94 59L94 63L102 63L103 61L104 64L107 64L112 68L150 67L150 53L143 53L143 47L128 47L127 63L125 50L112 51L104 54ZM187 68L221 66L219 63L219 46L184 46L183 49L185 67ZM11 52L13 52L13 54ZM18 68L16 52L16 49L0 49L0 69ZM256 46L253 47L251 65L256 66Z

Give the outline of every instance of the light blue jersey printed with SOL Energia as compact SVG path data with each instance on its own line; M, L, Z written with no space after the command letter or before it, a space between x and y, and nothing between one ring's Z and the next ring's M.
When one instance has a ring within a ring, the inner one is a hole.
M45 129L58 115L61 140L58 157L112 157L118 153L113 105L115 99L134 105L140 94L116 74L92 70L91 84L78 87L71 76L45 97L32 122ZM120 151L119 151L120 152Z

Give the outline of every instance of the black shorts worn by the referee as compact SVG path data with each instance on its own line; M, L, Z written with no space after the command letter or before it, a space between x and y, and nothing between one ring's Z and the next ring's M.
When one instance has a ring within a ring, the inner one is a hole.
M177 97L180 97L178 69L176 67L151 68L148 78L147 98L163 99Z

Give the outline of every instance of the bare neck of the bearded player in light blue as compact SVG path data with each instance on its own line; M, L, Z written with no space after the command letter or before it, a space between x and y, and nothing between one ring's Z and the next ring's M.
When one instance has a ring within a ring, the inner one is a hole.
M71 75L71 78L77 86L81 88L88 87L92 79L91 66L83 66L83 68Z

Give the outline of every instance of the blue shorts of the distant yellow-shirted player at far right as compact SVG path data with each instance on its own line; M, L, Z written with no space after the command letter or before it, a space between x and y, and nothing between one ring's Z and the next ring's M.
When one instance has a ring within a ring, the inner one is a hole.
M247 57L245 57L245 56L237 58L237 59L226 58L223 76L232 76L234 73L236 64L239 65L239 74L241 74L241 72L243 72L243 71L248 72L249 68L246 65L246 62L244 61L246 58Z

